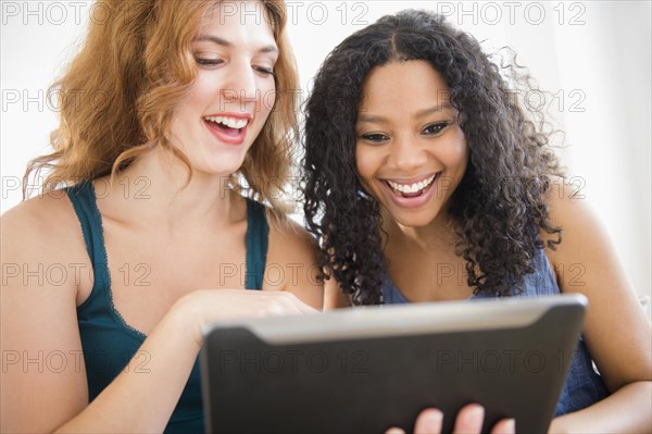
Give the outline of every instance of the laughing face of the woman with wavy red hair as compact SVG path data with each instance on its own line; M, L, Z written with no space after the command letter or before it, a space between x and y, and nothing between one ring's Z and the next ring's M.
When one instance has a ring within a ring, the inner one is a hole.
M274 106L278 48L256 4L256 14L215 8L192 41L197 78L175 111L172 141L193 171L236 172Z

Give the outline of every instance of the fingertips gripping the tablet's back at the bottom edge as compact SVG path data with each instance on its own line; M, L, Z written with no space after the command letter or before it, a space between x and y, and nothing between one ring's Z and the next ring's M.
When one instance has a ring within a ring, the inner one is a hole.
M455 418L454 433L475 434L482 430L485 409L477 404L469 404L462 408ZM422 411L414 424L414 434L440 434L443 413L436 408ZM503 419L491 430L492 434L514 434L516 426L514 419ZM400 427L391 427L385 434L405 434Z

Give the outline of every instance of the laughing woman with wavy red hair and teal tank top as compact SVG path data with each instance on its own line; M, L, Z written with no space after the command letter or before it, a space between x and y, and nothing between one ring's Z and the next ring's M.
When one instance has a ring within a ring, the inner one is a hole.
M93 5L53 152L27 168L42 194L1 219L0 432L203 433L202 330L324 298L308 273L269 278L316 259L273 197L297 128L287 7ZM18 264L37 278L4 278Z

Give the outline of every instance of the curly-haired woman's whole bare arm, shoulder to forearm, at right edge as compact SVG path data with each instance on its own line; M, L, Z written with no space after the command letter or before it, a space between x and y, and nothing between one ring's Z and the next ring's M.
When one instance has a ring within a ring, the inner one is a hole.
M589 299L582 333L612 395L556 418L550 432L652 432L650 322L604 231L584 200L572 197L570 188L552 194L551 220L564 233L549 259L562 292Z

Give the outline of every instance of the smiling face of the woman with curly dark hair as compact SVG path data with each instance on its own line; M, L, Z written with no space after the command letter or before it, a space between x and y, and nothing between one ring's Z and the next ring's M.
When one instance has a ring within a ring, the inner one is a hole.
M441 75L425 61L372 70L355 124L361 183L399 224L422 227L446 213L468 150Z

